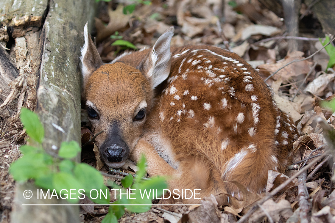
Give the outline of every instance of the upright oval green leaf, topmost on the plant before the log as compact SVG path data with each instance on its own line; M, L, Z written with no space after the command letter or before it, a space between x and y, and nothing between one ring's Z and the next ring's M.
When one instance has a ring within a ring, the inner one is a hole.
M40 122L39 116L27 108L21 108L20 119L28 136L39 142L43 142L44 128Z

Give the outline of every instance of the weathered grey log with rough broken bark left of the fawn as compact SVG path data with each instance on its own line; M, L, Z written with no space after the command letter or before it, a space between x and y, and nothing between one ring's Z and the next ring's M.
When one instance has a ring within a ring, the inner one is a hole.
M80 142L80 48L84 25L88 21L91 28L95 9L96 3L91 0L0 0L0 21L15 39L15 57L19 58L14 68L8 67L13 71L18 69L18 76L22 75L20 80L28 80L13 93L18 97L17 109L22 104L34 108L36 98L35 111L45 128L43 147L46 150L57 151L62 141ZM0 43L8 41L7 37L6 31L0 30ZM11 75L10 80L13 78L15 75ZM8 82L6 80L5 87ZM36 94L32 93L35 91L27 94L26 89L31 86L36 87ZM79 158L76 161L80 161ZM29 200L22 196L27 189L33 193ZM29 183L16 184L11 222L79 222L78 206L23 206L66 202L37 199L36 192L37 188Z

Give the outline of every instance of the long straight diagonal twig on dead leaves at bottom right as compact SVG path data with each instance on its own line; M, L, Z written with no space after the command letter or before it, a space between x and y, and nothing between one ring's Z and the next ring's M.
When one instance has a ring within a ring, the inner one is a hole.
M301 170L299 170L298 172L296 172L292 177L290 177L289 179L287 179L284 183L280 184L278 187L276 187L273 191L271 191L271 193L269 193L267 196L265 196L264 198L262 198L261 200L259 200L257 202L257 204L255 204L252 208L249 209L249 211L243 215L242 218L240 218L240 220L237 223L242 223L245 220L247 220L247 218L249 218L249 216L258 209L258 205L262 205L265 201L267 201L268 199L270 199L272 196L276 195L279 191L281 191L283 188L285 188L291 181L293 181L296 177L298 177L300 174L302 174L304 171L308 170L312 165L314 165L314 163L318 162L320 159L323 159L324 157L326 157L328 154L324 153L321 156L317 157L316 159L314 159L312 162L308 163L306 166L304 166L304 168L302 168Z

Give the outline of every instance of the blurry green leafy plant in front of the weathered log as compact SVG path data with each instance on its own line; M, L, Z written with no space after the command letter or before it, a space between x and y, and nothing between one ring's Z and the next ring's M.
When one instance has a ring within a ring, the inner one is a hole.
M34 179L37 186L55 190L71 203L78 202L80 192L86 196L92 189L108 192L102 176L96 169L86 163L76 163L72 160L81 151L76 141L62 142L58 155L48 154L42 147L44 128L37 114L22 108L20 118L31 145L22 145L20 150L23 156L10 166L10 173L16 181ZM75 191L73 196L67 194L71 192L70 189ZM98 195L95 190L89 198ZM98 197L91 200L98 204L109 204L109 193L106 198Z

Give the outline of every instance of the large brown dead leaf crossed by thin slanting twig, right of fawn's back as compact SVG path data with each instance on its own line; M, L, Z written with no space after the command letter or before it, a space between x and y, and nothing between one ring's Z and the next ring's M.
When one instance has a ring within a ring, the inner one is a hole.
M304 55L303 52L294 51L288 53L285 59L277 61L277 63L275 64L263 64L258 67L260 68L261 73L263 73L265 76L269 76L270 74L277 71L279 68L285 66L289 62L293 60L303 59L302 57L303 55ZM307 74L310 71L312 65L313 62L309 62L307 60L296 62L284 67L283 69L278 71L278 73L276 73L272 78L274 80L277 80L281 77L285 80L288 80L290 77L296 77L299 76L300 74Z

